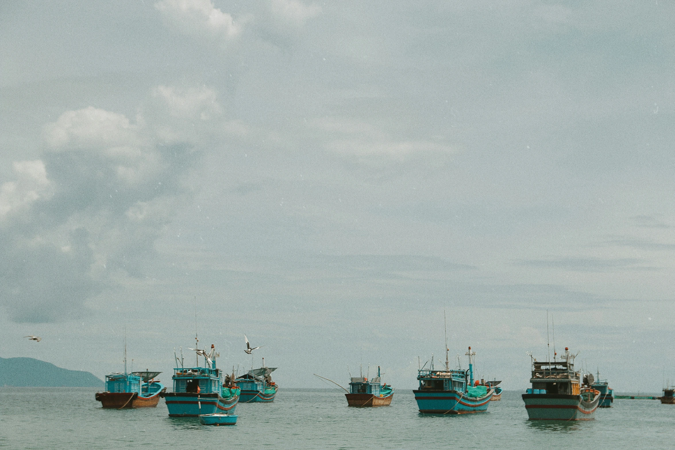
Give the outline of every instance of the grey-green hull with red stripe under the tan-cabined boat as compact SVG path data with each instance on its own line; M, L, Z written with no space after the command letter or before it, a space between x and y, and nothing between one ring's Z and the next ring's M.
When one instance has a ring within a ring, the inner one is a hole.
M522 394L522 400L530 420L592 420L600 394L593 401L568 394Z

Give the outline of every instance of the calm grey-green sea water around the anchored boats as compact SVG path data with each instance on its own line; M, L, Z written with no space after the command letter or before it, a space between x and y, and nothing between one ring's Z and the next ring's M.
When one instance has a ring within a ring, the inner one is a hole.
M236 426L200 426L157 408L103 410L96 389L0 387L0 448L9 449L672 449L675 405L615 400L595 420L529 422L518 392L489 412L418 414L412 391L391 406L347 407L338 391L281 389L237 406Z

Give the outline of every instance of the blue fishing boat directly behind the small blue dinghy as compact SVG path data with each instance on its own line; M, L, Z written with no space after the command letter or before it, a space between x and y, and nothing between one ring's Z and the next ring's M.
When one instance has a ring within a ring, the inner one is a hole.
M199 356L204 357L204 366L188 367L184 362L175 360L180 367L173 369L173 392L164 393L169 416L171 417L196 417L205 414L224 412L233 414L239 401L240 389L234 383L222 383L222 370L216 367L214 345L211 352L206 350L192 349ZM197 359L197 364L198 363ZM232 377L234 378L234 377ZM230 379L232 379L230 378Z

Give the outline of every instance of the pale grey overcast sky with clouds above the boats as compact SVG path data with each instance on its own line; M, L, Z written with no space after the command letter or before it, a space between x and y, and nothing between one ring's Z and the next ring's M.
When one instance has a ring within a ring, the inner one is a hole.
M196 311L222 367L250 368L246 333L282 387L362 362L412 389L418 356L444 357L445 310L451 364L471 345L522 389L548 310L559 353L658 391L674 13L1 2L0 356L102 378L126 327L134 369L168 382Z

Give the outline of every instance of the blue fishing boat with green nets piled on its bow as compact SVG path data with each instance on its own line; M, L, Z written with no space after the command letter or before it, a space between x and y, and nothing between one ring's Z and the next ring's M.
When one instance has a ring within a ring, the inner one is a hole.
M448 346L445 346L445 367L435 370L431 366L417 371L419 389L412 391L419 412L427 414L469 414L487 411L494 389L473 386L473 357L475 351L468 347L468 370L451 370L448 366ZM427 364L425 364L426 366Z

